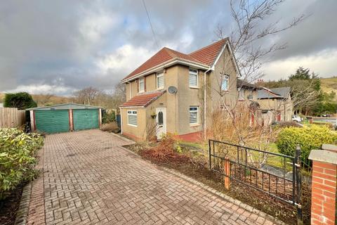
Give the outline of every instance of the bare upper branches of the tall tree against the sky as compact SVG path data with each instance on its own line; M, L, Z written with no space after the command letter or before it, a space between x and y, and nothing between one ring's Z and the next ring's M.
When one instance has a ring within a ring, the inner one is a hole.
M284 0L231 0L230 11L234 20L234 30L230 34L232 54L235 56L244 80L248 82L263 77L260 71L270 53L284 49L286 44L266 44L267 38L298 25L305 15L293 18L283 27L280 20L265 24ZM216 34L223 39L225 30L218 26Z

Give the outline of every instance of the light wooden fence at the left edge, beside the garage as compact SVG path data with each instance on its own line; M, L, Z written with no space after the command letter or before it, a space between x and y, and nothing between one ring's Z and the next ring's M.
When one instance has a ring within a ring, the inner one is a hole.
M20 127L25 124L25 110L0 108L0 128Z

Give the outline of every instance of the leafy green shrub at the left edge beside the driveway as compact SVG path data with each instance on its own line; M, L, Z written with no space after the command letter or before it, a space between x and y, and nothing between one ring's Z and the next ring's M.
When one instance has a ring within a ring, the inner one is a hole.
M0 129L0 200L4 200L23 181L37 174L35 155L44 144L39 134L20 129Z

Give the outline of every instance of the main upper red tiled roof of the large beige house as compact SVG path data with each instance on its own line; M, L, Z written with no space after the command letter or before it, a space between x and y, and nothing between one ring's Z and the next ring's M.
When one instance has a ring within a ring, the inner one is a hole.
M220 53L226 41L227 39L222 39L214 44L206 46L190 54L181 53L179 51L175 51L164 47L156 54L154 54L154 56L149 58L145 63L140 65L140 67L138 67L136 70L133 70L133 72L131 72L131 74L126 76L123 80L134 77L140 74L140 72L149 70L150 68L153 68L156 65L160 65L161 63L165 63L169 60L172 60L173 58L190 60L194 63L201 63L204 65L211 66L214 63L214 60L216 60L216 57Z

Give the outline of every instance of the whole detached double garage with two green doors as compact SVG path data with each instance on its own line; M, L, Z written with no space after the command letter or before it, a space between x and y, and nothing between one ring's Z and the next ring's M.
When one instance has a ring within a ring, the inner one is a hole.
M46 134L98 129L102 124L102 110L98 106L67 103L27 110L32 131Z

